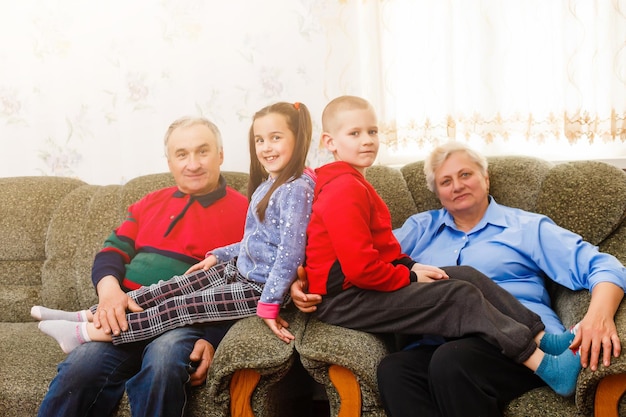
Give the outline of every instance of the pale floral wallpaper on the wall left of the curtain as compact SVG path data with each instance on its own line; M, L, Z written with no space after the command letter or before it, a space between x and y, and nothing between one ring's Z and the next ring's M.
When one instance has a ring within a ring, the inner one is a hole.
M124 183L167 171L163 134L204 115L224 136L224 170L247 171L251 117L361 94L350 15L330 0L20 0L0 5L0 176ZM329 82L329 80L332 80Z

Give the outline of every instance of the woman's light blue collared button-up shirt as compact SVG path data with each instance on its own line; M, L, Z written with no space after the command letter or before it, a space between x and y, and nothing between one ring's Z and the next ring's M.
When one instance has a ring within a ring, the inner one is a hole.
M394 233L417 262L478 269L541 316L550 333L564 327L551 308L545 278L572 290L593 290L599 282L626 289L626 269L614 256L544 215L501 206L493 197L467 233L446 209L413 215Z

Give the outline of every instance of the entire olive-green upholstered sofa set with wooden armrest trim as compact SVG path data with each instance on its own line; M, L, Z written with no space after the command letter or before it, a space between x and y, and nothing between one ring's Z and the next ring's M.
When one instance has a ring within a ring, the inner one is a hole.
M490 158L491 193L501 204L547 214L626 263L626 173L600 162L554 165L527 157ZM245 190L247 175L225 173ZM389 205L394 227L411 214L438 208L425 185L422 162L400 169L374 166L367 177ZM0 415L33 416L64 354L30 318L34 304L78 309L96 301L91 262L126 207L173 184L169 174L125 185L97 186L58 177L0 178ZM566 325L589 303L586 291L551 288ZM253 317L236 323L217 350L206 386L194 389L189 416L304 416L303 398L321 388L330 415L384 416L375 370L389 345L373 335L320 323L293 308L285 318L295 342L287 345ZM617 314L626 339L626 309ZM624 385L624 355L596 372L583 371L575 397L537 389L508 405L507 416L591 416ZM313 382L315 381L315 382ZM289 408L286 404L294 402ZM298 405L300 404L298 408ZM622 413L624 404L619 404ZM604 411L603 411L604 412ZM129 416L124 400L118 416ZM615 410L617 415L617 409ZM626 414L623 414L626 415Z

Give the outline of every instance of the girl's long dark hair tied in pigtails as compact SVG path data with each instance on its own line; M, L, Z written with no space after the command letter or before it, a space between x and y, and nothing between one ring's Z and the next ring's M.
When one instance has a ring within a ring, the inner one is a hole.
M266 116L270 113L282 114L287 120L287 126L295 137L295 147L291 160L285 166L285 169L278 175L274 184L270 187L269 191L259 201L257 206L257 214L261 221L265 219L265 210L269 204L272 193L281 185L286 183L290 178L299 178L304 171L306 164L306 156L311 146L311 137L313 135L313 124L311 122L311 114L309 109L302 103L287 103L278 102L267 107L262 108L255 113L252 118L252 125L250 126L249 133L249 147L250 147L250 180L248 181L248 199L252 198L252 194L258 188L259 185L269 175L263 165L256 158L256 147L254 140L254 121L259 117Z

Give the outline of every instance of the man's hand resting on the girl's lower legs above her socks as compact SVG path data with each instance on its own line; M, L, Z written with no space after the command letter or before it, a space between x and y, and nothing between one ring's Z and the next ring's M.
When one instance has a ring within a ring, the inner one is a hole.
M98 309L93 316L93 324L107 334L119 335L128 330L126 312L143 311L135 301L120 288L113 275L108 275L98 282Z

